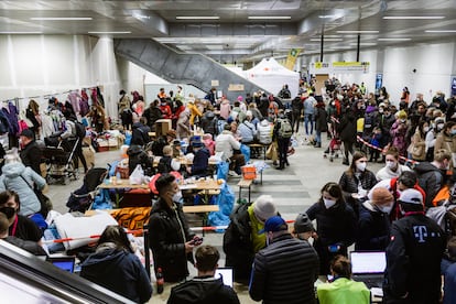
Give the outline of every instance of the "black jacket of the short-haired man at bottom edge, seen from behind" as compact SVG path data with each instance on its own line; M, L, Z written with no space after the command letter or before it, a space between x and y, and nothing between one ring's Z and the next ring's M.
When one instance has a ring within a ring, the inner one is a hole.
M224 287L221 278L196 276L174 287L174 298L178 303L206 303L205 301L214 298Z

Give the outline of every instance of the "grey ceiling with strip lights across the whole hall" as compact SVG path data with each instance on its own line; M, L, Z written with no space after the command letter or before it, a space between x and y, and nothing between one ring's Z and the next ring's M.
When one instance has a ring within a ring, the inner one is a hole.
M384 19L391 17L421 19ZM151 37L221 63L285 56L290 48L319 54L322 32L325 52L356 50L358 33L344 31L373 31L360 34L361 50L455 40L456 0L0 1L0 34Z

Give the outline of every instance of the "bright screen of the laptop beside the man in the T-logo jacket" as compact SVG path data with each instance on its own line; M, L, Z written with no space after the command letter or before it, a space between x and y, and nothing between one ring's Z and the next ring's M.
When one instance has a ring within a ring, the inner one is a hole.
M387 268L384 251L350 252L351 272L359 273L383 273Z

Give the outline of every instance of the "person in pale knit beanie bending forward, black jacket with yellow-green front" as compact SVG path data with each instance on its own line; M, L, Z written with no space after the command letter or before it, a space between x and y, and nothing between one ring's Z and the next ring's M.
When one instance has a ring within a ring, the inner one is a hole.
M252 204L239 205L230 215L224 235L226 267L234 269L235 281L248 284L254 254L267 245L264 228L268 218L278 215L272 196L261 195Z

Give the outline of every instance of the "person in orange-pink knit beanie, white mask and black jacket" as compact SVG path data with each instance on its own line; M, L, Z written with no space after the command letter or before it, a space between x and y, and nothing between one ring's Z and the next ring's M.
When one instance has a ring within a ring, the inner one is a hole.
M359 207L355 250L384 251L389 242L393 195L383 187L373 189L372 198Z

